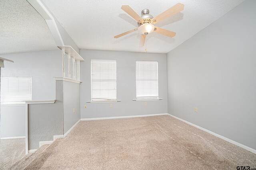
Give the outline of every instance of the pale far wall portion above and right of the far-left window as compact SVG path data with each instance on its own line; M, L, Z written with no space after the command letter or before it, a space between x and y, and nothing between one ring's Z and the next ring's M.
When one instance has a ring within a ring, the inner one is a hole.
M62 76L61 50L0 55L13 60L2 68L4 76L32 76L32 99L55 98L55 79Z

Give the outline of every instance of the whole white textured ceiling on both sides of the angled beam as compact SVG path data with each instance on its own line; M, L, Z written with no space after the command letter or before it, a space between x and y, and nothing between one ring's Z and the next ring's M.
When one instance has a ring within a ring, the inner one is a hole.
M134 52L144 52L144 48L138 47L138 31L114 39L114 35L138 27L121 6L128 4L138 14L148 8L152 16L157 16L180 2L185 5L182 12L156 23L176 32L176 36L153 32L146 40L148 52L168 53L244 0L42 1L80 49ZM0 8L0 54L56 49L45 21L26 0L1 0Z

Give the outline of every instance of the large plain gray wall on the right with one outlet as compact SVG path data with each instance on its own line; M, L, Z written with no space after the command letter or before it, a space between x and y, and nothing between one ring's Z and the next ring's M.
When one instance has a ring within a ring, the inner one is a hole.
M246 0L167 54L168 113L253 149L255 6Z

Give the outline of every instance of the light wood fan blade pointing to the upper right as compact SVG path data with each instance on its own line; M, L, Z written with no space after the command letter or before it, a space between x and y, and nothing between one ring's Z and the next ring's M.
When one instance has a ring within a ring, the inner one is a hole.
M173 7L169 8L168 10L162 12L158 16L154 17L152 20L156 20L155 23L158 23L159 21L162 21L167 17L177 14L178 12L181 12L182 10L184 10L184 4L178 3L178 4L174 5Z

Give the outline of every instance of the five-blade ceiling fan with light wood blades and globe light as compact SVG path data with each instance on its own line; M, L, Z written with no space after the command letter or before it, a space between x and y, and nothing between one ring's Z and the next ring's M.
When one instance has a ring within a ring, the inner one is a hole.
M124 12L129 14L132 18L134 18L134 20L138 22L138 27L131 29L129 31L126 31L124 33L121 33L119 35L116 35L114 36L114 38L119 38L128 33L132 33L133 31L138 30L141 33L139 47L143 47L145 43L146 35L148 35L149 33L152 33L153 31L166 35L168 37L174 37L176 35L175 32L172 32L160 27L156 27L154 26L154 24L182 11L184 9L184 4L178 3L173 7L169 8L168 10L162 12L156 17L153 17L152 15L150 15L148 9L144 9L141 11L142 16L139 16L129 5L122 5L121 9L124 10Z

